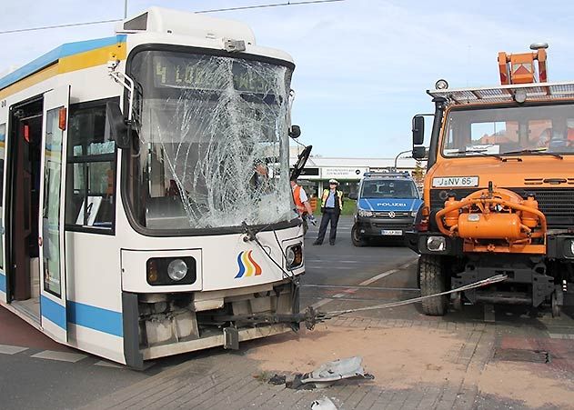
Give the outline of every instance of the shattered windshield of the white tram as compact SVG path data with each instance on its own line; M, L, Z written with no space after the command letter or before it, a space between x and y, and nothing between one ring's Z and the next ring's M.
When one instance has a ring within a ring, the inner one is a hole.
M179 230L296 217L288 183L291 73L227 56L138 53L131 75L139 146L128 183L138 223Z

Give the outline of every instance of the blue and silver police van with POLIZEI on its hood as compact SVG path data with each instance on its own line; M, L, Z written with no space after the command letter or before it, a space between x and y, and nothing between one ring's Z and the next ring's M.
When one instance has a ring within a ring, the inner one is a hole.
M365 173L358 192L353 245L365 245L368 239L400 239L411 230L422 200L415 181L405 173Z

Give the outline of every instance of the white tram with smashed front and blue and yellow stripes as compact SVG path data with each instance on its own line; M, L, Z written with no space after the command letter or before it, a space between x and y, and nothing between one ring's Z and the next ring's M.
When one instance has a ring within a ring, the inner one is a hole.
M293 69L152 7L0 79L0 304L135 368L297 326Z

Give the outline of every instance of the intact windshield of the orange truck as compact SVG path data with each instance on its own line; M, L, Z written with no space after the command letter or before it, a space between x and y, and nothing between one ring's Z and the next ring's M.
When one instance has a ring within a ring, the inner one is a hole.
M574 105L452 110L444 156L574 154Z

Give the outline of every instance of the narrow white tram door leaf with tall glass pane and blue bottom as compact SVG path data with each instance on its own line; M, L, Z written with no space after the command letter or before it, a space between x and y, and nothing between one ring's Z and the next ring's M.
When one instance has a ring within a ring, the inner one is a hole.
M55 340L67 340L64 254L65 141L68 85L44 95L44 135L40 180L41 325Z

